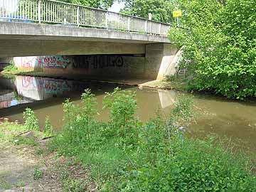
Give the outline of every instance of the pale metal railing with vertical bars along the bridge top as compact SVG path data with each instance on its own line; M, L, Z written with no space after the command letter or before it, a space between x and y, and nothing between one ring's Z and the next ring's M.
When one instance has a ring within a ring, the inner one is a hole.
M52 0L0 0L0 21L107 28L166 36L168 23Z

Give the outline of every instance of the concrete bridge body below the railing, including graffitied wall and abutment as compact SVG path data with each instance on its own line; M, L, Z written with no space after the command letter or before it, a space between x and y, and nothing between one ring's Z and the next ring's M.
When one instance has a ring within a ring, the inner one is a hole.
M178 48L167 37L36 23L0 27L0 58L35 56L15 58L18 68L96 79L155 80L175 73ZM45 55L51 56L38 57Z

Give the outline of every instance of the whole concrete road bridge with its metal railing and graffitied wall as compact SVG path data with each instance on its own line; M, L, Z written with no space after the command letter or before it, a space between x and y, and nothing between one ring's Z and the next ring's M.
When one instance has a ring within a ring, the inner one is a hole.
M0 63L46 73L154 80L181 54L168 23L60 1L0 1L0 28Z

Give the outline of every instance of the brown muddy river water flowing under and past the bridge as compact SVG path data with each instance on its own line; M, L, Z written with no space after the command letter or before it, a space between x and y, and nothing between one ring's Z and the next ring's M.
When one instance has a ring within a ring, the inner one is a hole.
M117 86L136 91L137 116L142 121L154 117L157 110L169 114L176 98L181 94L173 90L139 90L138 87L82 80L1 76L0 117L23 122L23 110L31 107L36 112L41 127L44 127L48 115L53 127L60 129L63 119L62 103L65 98L79 103L83 90L90 88L98 102L97 118L107 121L108 114L102 110L102 98L105 92L111 92ZM193 95L192 98L196 110L195 119L186 131L189 135L206 137L217 134L221 138L231 139L243 150L256 154L256 101L238 102L208 95Z

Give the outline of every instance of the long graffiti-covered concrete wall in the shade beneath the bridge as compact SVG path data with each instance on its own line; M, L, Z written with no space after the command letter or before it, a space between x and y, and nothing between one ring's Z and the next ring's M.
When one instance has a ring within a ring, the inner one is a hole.
M85 78L146 78L143 55L53 55L16 57L20 70L46 74L85 75Z

